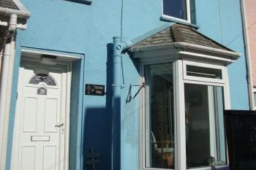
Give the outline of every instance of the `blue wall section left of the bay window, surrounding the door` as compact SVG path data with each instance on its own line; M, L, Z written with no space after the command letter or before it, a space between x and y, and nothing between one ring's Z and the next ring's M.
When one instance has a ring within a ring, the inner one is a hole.
M9 133L9 166L11 158L11 141L13 120L15 117L15 91L17 89L20 49L29 47L39 50L53 50L64 53L84 54L84 79L86 83L106 85L106 96L84 96L82 114L83 131L76 132L71 128L72 140L81 140L81 153L72 152L72 157L82 156L81 160L70 159L70 167L88 169L86 153L94 147L100 154L99 169L110 169L111 163L111 90L112 73L110 61L112 58L113 36L120 36L121 1L94 1L91 5L78 4L62 0L22 0L24 6L31 12L29 26L26 31L18 31L18 43L15 59L15 77L12 95L12 117ZM134 39L151 29L165 25L159 20L161 0L124 1L125 39ZM143 11L143 12L141 12ZM124 75L126 87L122 89L127 97L129 84L138 85L138 61L124 55ZM74 78L74 77L73 77ZM78 78L78 77L76 77ZM123 101L125 100L123 98ZM137 169L138 167L138 98L129 104L123 102L124 115L121 115L121 169ZM81 104L80 107L82 108ZM73 122L76 123L75 121ZM79 142L78 142L79 143ZM79 149L80 146L78 146ZM74 148L72 148L72 151ZM75 165L76 164L76 165Z

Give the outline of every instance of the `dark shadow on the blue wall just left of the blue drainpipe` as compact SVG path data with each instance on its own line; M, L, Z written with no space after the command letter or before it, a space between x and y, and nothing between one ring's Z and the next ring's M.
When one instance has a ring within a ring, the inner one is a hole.
M113 111L113 69L112 55L113 44L107 45L108 61L106 63L105 107L88 107L84 114L83 129L83 169L91 170L92 165L87 164L87 154L91 148L99 153L97 170L111 169L111 144L112 144L112 111ZM99 96L101 97L101 96ZM91 159L89 159L91 160Z

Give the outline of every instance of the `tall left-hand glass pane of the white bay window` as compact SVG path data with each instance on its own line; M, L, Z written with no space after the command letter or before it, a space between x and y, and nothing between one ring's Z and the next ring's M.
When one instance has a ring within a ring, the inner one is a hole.
M172 63L146 66L146 167L174 169Z

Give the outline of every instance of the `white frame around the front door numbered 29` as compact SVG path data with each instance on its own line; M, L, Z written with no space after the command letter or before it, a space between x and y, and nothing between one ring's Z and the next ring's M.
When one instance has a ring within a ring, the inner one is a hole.
M38 52L38 51L31 51L31 50L22 50L21 51L21 57L20 57L20 66L19 66L19 78L18 82L20 82L20 68L23 65L23 62L30 61L34 63L38 63L40 61L41 55L55 55L56 61L61 66L67 67L67 73L66 73L66 109L65 109L65 134L64 134L64 150L60 150L61 155L59 158L64 157L64 169L69 169L69 125L70 125L70 96L71 96L71 79L72 79L72 61L77 61L80 59L78 56L72 56L72 55L61 55L56 53L45 53L45 52ZM35 67L35 66L34 66ZM54 67L54 66L53 66ZM22 85L19 85L18 83L18 92L22 91ZM19 94L19 96L22 96L22 94ZM19 96L17 96L17 103L16 103L16 109L18 110L21 107L21 102L18 100ZM16 111L15 111L15 118L17 117ZM15 128L16 121L14 122L14 131L13 131L13 140L12 140L12 161L11 161L11 168L13 168L13 163L16 163L17 161L17 145L15 144L15 139L20 140L20 133L17 132L17 128ZM16 133L17 132L17 133ZM61 147L61 145L60 145ZM63 148L63 147L62 147ZM15 155L16 153L16 155ZM15 162L14 162L15 161Z

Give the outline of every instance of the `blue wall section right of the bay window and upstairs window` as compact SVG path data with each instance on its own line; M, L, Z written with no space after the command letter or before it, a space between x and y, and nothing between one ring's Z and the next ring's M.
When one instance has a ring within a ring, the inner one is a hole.
M196 0L199 31L241 53L228 66L231 109L249 109L239 0Z

